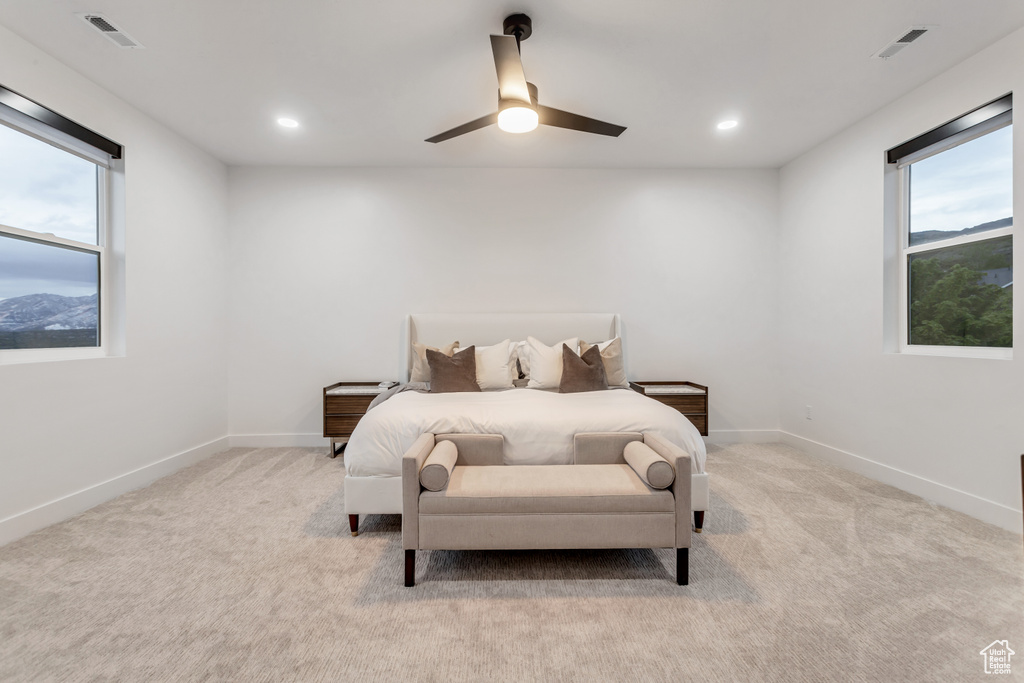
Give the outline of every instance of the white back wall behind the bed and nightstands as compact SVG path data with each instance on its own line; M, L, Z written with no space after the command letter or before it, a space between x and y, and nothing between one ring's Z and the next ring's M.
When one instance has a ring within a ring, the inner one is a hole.
M721 438L777 429L775 171L232 168L228 187L232 442L322 443L321 388L397 379L411 312L618 312L633 377L710 385Z

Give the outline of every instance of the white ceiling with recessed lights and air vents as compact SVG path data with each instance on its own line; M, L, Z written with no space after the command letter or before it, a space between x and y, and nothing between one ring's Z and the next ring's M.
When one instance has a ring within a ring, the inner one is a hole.
M85 11L146 49L116 47ZM534 19L522 57L541 102L621 137L423 141L497 109L487 36L516 11ZM228 164L777 167L1024 26L1024 2L16 0L0 24ZM938 28L871 58L922 24ZM740 127L717 131L727 117Z

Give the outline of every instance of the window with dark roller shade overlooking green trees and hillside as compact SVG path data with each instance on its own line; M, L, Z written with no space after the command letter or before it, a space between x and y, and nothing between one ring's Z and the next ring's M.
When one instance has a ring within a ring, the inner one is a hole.
M1008 95L889 153L901 198L901 350L1013 347L1012 115Z

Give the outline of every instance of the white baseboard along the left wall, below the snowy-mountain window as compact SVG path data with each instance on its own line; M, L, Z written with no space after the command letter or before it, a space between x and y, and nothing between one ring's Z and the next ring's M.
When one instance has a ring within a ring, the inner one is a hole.
M88 488L83 488L74 494L69 494L63 498L44 503L31 510L11 515L6 519L0 519L0 546L8 544L11 541L16 541L50 524L74 517L100 503L105 503L122 494L127 494L129 490L141 488L161 477L176 472L182 467L195 465L210 456L226 451L227 447L227 437L222 436L209 443L183 451L177 455L140 467L137 470L116 476L113 479L97 483Z

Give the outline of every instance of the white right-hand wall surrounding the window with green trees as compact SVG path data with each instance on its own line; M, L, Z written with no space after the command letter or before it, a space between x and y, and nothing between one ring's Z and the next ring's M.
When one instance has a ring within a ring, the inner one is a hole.
M780 422L792 443L1020 529L1024 297L1014 307L1013 360L883 351L883 153L1010 91L1024 93L1024 32L782 169ZM1022 215L1017 133L1015 214ZM1024 236L1015 245L1022 263Z

